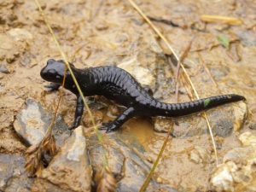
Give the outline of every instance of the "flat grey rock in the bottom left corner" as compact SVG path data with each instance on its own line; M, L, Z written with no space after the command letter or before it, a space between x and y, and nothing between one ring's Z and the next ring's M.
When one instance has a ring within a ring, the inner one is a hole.
M27 177L24 165L20 154L0 154L0 191L30 191L34 179Z

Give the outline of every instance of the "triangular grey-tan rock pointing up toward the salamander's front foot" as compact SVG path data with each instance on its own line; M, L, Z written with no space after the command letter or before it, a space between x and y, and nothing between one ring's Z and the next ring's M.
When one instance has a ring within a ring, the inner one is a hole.
M39 178L60 189L85 192L90 191L91 175L83 127L79 126Z

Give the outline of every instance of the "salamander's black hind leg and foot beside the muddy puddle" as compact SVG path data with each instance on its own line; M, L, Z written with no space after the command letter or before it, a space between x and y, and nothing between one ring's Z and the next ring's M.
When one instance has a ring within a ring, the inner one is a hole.
M120 114L117 119L109 122L103 123L101 130L106 130L106 132L118 130L128 119L131 119L134 116L134 108L125 109L124 113Z

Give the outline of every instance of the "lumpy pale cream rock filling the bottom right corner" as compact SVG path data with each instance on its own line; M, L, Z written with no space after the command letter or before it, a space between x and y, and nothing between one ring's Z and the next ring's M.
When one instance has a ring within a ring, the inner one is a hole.
M242 148L234 148L224 155L224 163L212 174L212 189L217 191L255 191L256 136L251 132L239 137Z

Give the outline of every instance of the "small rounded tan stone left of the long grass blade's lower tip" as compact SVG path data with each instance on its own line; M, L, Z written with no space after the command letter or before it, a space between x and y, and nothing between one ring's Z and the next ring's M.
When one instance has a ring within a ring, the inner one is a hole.
M211 156L206 148L195 146L189 153L189 159L197 164L209 163L209 160L211 160Z

